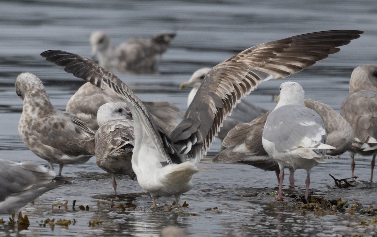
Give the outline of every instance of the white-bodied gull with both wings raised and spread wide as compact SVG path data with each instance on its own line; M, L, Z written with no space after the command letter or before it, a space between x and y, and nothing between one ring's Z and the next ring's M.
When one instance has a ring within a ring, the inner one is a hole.
M132 90L111 72L77 54L59 50L41 53L49 62L99 88L112 88L130 108L135 133L132 168L141 188L155 197L181 195L193 187L192 175L215 138L222 121L239 100L262 81L302 71L337 46L359 38L362 31L314 32L254 46L219 63L205 76L179 125L168 135Z

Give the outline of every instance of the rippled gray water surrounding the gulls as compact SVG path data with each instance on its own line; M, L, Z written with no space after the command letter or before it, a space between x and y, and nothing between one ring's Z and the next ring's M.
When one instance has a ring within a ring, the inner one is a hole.
M39 54L60 49L89 57L88 38L92 31L108 32L114 45L130 37L176 31L177 37L162 57L159 74L117 75L142 100L167 100L186 109L188 90L178 87L198 68L215 66L243 49L292 35L331 29L363 30L361 38L341 47L339 53L289 78L303 86L307 98L318 99L339 111L348 95L352 69L363 64L376 65L376 13L377 5L367 0L1 1L0 156L46 164L18 136L22 101L15 94L15 78L20 72L36 74L46 86L52 104L64 110L83 82ZM262 83L247 99L261 107L274 108L272 98L279 93L281 83ZM158 199L159 208L151 208L149 194L126 177L120 177L123 179L118 181L118 192L123 194L115 198L110 176L92 158L84 165L64 167L63 175L72 177L72 185L50 191L21 209L31 223L26 229L6 222L0 224L0 236L158 236L167 225L179 226L191 236L376 234L373 225L359 225L363 221L369 223L371 216L347 212L319 214L300 209L293 199L276 203L273 197L262 196L261 193L277 190L275 174L241 164L211 164L210 156L219 148L220 143L215 141L209 157L199 164L194 188L181 197L189 206L180 211L162 208L172 204L172 197ZM356 158L359 179L355 188L332 189L334 182L328 176L351 176L349 155L345 153L313 168L310 194L326 199L341 197L349 203L360 202L365 208L376 206L375 183L360 181L369 180L370 158ZM305 176L305 171L297 171L297 187L284 191L304 194ZM51 208L52 203L66 200L67 208ZM136 207L122 210L119 203ZM88 205L89 210L81 211L80 205ZM8 216L0 218L8 220ZM40 226L41 220L47 218L76 222L69 226ZM89 226L93 220L101 223Z

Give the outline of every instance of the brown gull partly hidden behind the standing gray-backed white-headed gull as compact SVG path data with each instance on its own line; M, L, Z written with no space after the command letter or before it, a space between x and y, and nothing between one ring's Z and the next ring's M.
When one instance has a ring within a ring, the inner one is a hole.
M326 149L327 155L340 155L348 151L353 142L351 125L330 106L314 99L305 99L305 107L316 111L325 125L326 144L334 149ZM226 147L219 152L212 163L244 163L265 171L275 171L279 183L279 165L265 151L262 145L263 129L268 115L273 109L249 123L239 123L228 132L222 142ZM290 186L294 187L294 169L290 170Z

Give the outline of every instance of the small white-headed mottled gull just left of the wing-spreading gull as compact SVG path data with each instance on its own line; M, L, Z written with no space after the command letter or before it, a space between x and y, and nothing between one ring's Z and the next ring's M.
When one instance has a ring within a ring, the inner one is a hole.
M131 158L135 142L133 120L129 111L117 103L106 103L98 109L100 128L95 134L95 161L107 171L116 195L115 175L126 174L135 178Z

